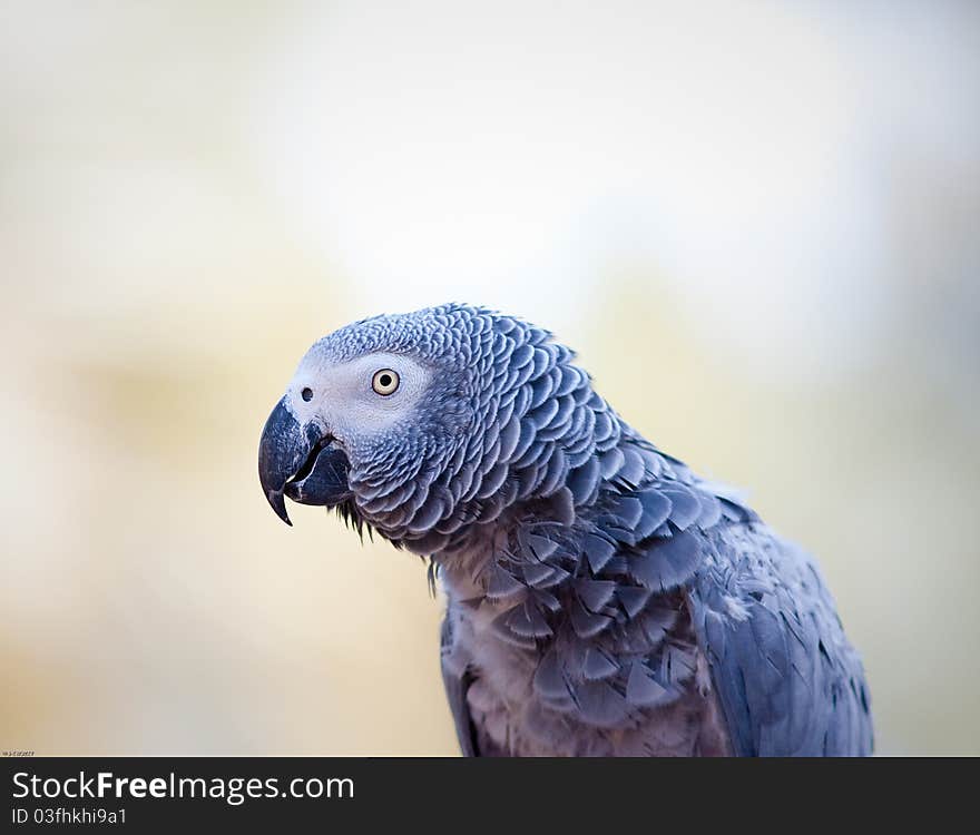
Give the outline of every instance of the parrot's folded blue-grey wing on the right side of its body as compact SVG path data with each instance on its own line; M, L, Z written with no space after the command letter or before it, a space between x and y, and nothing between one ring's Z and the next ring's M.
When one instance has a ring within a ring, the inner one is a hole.
M813 561L763 525L705 541L689 601L735 753L871 754L861 659Z

